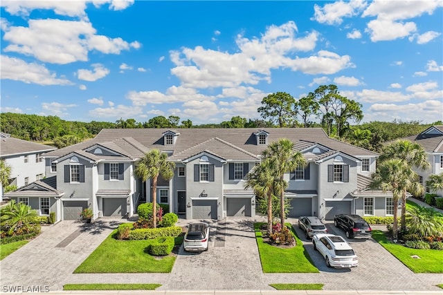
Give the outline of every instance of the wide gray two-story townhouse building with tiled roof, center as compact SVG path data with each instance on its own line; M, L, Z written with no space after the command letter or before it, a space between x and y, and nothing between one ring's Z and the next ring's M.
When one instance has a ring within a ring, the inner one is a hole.
M376 153L329 138L323 129L284 128L103 129L92 140L44 155L59 193L51 210L60 220L77 219L86 207L94 218L132 216L137 204L151 201L150 180L142 183L133 171L147 151L159 149L176 168L171 180L159 180L157 202L187 219L253 217L257 199L244 189L248 172L280 138L294 142L309 163L285 175L290 217L392 215L392 194L368 190Z

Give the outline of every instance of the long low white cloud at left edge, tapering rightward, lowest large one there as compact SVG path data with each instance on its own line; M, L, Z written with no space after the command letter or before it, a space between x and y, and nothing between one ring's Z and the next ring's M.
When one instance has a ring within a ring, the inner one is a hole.
M68 79L57 78L45 66L37 63L26 63L22 59L1 55L1 79L11 79L24 83L39 85L71 85Z

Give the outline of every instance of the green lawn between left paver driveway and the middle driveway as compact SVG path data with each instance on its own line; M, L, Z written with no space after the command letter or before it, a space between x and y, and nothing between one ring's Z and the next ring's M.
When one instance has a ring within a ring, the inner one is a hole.
M114 230L74 274L171 272L175 256L156 257L147 254L150 240L116 240ZM176 238L176 245L183 237Z

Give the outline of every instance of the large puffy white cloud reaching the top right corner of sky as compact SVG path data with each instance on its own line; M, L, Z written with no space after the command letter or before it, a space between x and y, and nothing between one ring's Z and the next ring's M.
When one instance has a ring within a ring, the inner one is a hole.
M433 11L442 6L440 0L427 1L373 1L363 12L362 17L377 17L368 23L365 32L368 32L371 41L388 41L407 37L417 31L414 22L406 19L419 17L424 13L431 15Z

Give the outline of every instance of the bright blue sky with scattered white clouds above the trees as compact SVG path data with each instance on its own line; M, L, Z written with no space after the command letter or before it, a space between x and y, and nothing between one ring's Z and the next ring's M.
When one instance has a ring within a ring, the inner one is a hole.
M1 112L194 124L319 85L363 122L443 120L443 2L1 1Z

